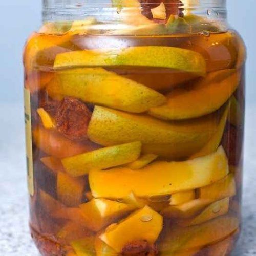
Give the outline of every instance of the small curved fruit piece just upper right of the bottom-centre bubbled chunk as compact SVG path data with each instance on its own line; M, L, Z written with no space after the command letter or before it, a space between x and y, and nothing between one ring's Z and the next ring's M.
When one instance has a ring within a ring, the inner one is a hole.
M209 204L209 200L195 199L181 205L166 207L161 211L161 215L167 218L190 218L198 214Z

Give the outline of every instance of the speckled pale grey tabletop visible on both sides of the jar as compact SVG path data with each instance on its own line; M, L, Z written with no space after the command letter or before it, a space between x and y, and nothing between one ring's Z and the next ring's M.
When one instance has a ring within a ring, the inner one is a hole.
M243 230L233 256L256 254L256 106L247 106ZM0 104L0 255L39 256L28 229L22 104Z

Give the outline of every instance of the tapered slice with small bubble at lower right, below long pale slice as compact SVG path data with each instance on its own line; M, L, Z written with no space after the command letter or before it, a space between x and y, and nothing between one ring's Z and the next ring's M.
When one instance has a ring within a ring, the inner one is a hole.
M179 225L182 226L194 226L204 223L208 220L214 219L221 215L225 215L228 212L229 198L224 198L220 201L214 202L207 206L198 216L193 219L182 220Z

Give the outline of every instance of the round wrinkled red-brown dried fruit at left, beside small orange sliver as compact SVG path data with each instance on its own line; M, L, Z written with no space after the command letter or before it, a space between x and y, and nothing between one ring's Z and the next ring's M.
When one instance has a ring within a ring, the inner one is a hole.
M71 140L86 140L91 111L78 99L65 98L55 114L56 129Z

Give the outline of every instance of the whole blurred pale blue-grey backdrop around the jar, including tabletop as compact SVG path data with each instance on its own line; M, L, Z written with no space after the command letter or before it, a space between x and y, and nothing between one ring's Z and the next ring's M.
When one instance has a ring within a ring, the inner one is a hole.
M256 0L227 0L248 50L244 230L236 256L256 254ZM36 256L27 226L22 51L41 19L40 0L0 0L0 255Z

